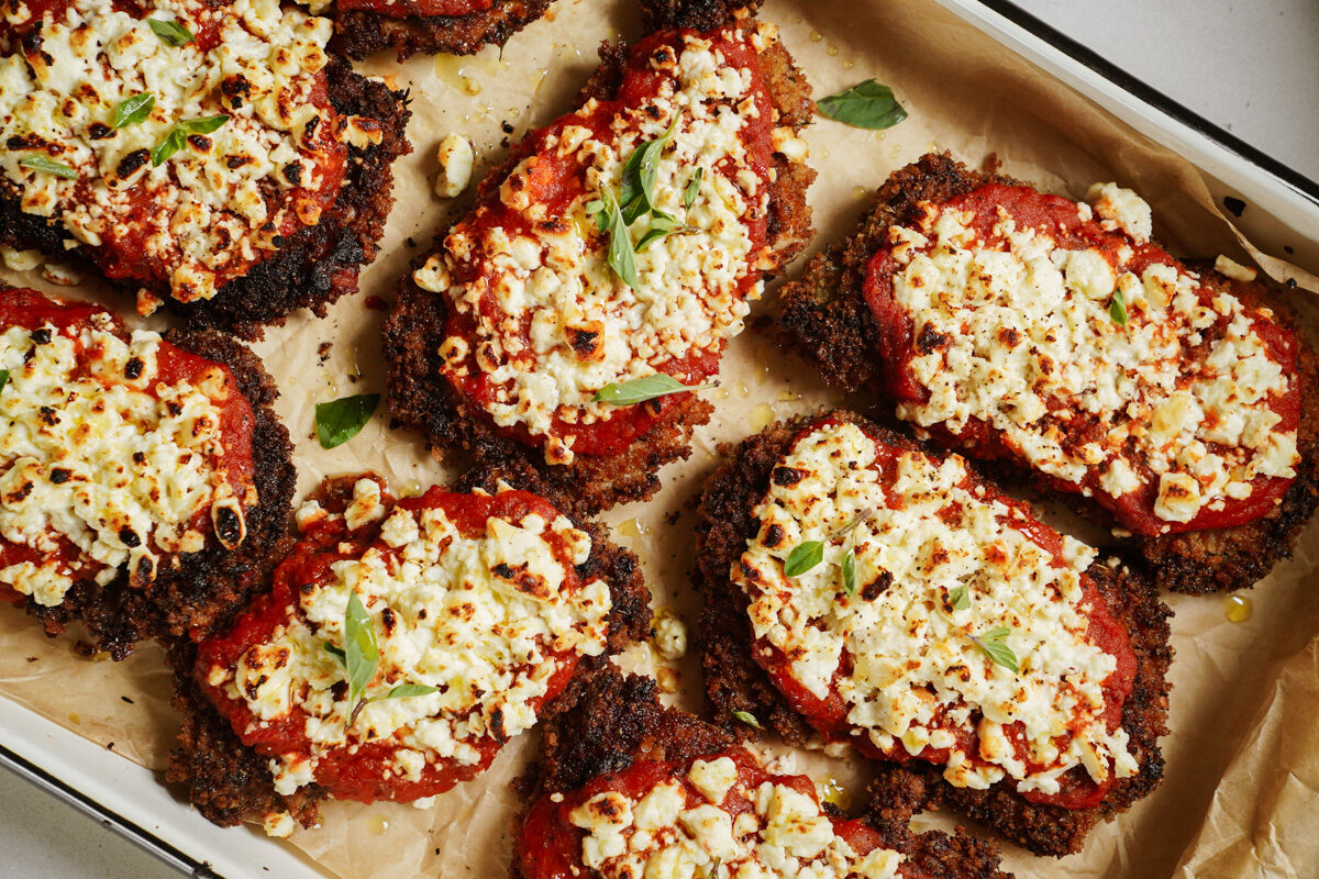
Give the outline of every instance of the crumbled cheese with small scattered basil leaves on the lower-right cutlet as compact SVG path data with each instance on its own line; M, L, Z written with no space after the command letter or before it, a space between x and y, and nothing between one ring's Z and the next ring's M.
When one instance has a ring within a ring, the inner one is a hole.
M790 656L791 677L815 697L838 692L847 721L881 751L947 749L944 778L958 787L1012 779L1020 791L1057 793L1076 766L1096 781L1115 763L1117 778L1132 775L1126 733L1111 733L1104 717L1103 684L1117 660L1087 640L1080 573L1093 550L1064 538L1066 561L1054 560L1021 530L1020 511L966 488L958 456L939 464L900 451L893 468L886 486L874 440L848 423L789 449L756 507L760 530L732 567L756 638ZM848 596L838 531L867 510L851 534L857 589ZM824 561L787 577L783 563L805 540L826 543ZM958 608L952 590L963 585ZM977 644L1000 627L1016 673ZM1012 725L1035 768L1013 747ZM979 750L964 751L959 733L973 733Z

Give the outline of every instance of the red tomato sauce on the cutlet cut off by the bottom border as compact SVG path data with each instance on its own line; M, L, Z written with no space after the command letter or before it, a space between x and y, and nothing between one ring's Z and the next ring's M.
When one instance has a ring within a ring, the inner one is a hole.
M727 756L737 764L737 781L720 804L720 808L728 812L735 821L739 814L751 812L753 808L751 801L740 793L754 791L766 781L790 787L819 803L810 778L805 775L770 775L741 749L699 759L715 760L720 756ZM640 800L656 787L671 780L682 785L682 792L686 795L683 808L706 805L704 795L687 780L690 768L691 763L637 760L625 770L591 779L576 791L565 793L559 803L551 800L549 795L539 797L528 810L517 837L514 858L521 878L579 879L592 875L582 862L582 839L587 832L572 824L568 816L599 793L615 791L633 800ZM865 821L835 817L830 817L830 821L834 824L835 836L845 841L857 855L864 857L882 846L880 834ZM923 871L917 871L913 865L904 865L900 872L907 879L925 879L926 876Z

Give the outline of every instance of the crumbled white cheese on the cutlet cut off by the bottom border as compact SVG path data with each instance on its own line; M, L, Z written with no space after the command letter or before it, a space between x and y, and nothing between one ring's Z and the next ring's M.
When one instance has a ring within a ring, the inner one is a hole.
M710 787L711 775L718 776L716 788ZM834 820L820 812L814 796L776 781L748 788L727 756L694 762L686 780L702 796L674 779L640 799L605 791L574 809L568 820L587 832L582 862L604 879L898 875L900 853L881 846L859 854L835 833ZM736 817L724 808L728 800L740 801Z

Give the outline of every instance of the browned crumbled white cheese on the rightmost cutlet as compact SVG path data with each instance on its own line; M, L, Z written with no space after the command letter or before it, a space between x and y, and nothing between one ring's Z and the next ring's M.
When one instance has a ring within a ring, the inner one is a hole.
M1111 186L1095 210L1148 237L1149 207ZM901 403L901 418L952 432L979 419L1034 469L1074 484L1099 474L1086 493L1157 485L1165 523L1248 498L1257 477L1295 476L1295 430L1272 409L1294 378L1258 332L1268 310L1175 265L1137 273L1132 248L1116 266L1099 249L1063 248L1002 210L989 242L971 224L927 204L915 228L890 233L893 298L915 340L907 370L929 391Z

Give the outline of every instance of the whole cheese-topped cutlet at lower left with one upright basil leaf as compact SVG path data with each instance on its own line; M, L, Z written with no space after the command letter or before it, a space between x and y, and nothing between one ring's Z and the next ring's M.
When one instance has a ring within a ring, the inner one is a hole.
M579 666L645 633L632 556L501 480L401 499L377 477L331 481L297 522L272 590L191 659L186 687L207 702L191 710L208 717L186 722L174 775L222 824L278 826L319 796L443 793L534 726ZM198 747L216 722L228 756ZM216 796L207 781L235 749L264 763L257 788Z

